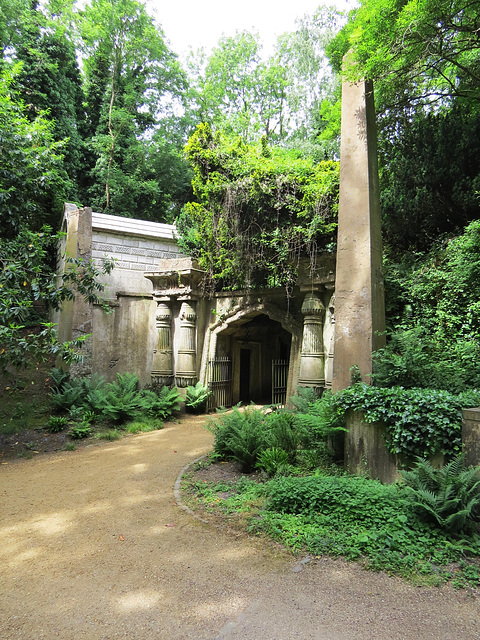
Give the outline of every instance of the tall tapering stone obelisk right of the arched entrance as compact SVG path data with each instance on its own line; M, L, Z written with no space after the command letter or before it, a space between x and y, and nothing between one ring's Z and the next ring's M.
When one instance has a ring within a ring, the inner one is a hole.
M333 391L357 366L369 382L372 351L385 341L385 302L375 108L371 82L344 82L335 278Z

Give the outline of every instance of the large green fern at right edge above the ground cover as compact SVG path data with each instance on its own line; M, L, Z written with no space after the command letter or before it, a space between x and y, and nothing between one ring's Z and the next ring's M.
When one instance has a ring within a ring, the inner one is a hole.
M480 522L480 467L458 455L441 468L418 460L403 480L419 517L450 533L472 532Z

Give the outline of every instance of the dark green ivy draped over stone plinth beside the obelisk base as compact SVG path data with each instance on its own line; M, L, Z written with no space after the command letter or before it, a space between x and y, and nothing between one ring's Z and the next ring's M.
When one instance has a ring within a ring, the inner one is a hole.
M458 453L462 409L479 400L480 394L474 392L455 396L435 389L387 389L367 384L357 384L335 397L344 411L362 411L367 422L382 422L388 450L411 460Z

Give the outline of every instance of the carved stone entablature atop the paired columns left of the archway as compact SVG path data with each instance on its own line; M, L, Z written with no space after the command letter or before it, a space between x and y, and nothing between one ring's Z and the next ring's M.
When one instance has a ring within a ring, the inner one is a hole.
M159 261L158 271L145 273L153 284L153 295L178 298L199 295L199 285L205 271L191 258L172 258Z

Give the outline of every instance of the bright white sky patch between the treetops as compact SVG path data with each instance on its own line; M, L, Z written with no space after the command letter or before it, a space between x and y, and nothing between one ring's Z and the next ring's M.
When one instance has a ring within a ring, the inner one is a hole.
M277 36L295 29L296 18L312 15L321 0L147 0L175 53L205 47L207 52L222 35L258 31L269 55ZM325 5L351 9L354 0L325 0Z

